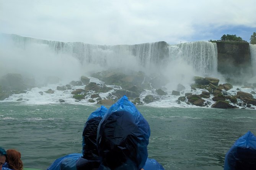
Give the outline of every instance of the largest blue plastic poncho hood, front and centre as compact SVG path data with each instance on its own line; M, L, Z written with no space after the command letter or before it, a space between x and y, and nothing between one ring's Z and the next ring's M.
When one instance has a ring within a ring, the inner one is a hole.
M99 123L99 170L140 170L148 157L150 127L126 96L113 104Z

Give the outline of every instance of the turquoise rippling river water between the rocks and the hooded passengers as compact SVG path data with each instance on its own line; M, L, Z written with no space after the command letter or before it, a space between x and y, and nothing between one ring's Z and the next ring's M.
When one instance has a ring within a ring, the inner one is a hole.
M98 107L0 103L0 146L18 149L24 167L46 169L81 152L84 123ZM248 130L256 134L255 110L136 107L151 128L148 156L166 170L223 170L235 140Z

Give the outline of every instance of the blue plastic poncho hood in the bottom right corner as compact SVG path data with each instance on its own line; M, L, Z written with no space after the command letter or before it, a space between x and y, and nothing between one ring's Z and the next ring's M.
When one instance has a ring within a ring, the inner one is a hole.
M248 131L240 137L225 156L224 170L256 169L256 138Z

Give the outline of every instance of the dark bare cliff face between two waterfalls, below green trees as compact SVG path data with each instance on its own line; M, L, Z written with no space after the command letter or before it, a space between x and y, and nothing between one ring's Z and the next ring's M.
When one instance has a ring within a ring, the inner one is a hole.
M224 75L251 74L248 42L216 42L218 72Z

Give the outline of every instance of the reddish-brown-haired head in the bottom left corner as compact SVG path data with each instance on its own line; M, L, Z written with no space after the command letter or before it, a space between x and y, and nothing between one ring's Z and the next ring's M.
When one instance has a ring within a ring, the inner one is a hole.
M9 168L13 170L22 170L23 164L21 161L21 153L15 149L7 150L6 162L9 164Z

